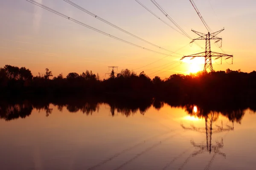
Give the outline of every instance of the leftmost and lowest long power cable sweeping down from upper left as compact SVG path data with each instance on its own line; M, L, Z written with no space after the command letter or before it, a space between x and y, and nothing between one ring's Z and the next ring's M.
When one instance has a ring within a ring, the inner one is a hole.
M50 12L52 12L52 13L54 13L54 14L57 14L57 15L59 15L59 16L61 16L61 17L64 17L64 18L66 18L66 19L68 19L68 20L71 20L71 21L73 21L74 23L77 23L77 24L79 24L79 25L81 25L81 26L90 28L90 29L93 30L93 31L96 31L96 32L99 32L99 33L101 33L101 34L104 34L104 35L106 35L106 36L108 36L108 37L111 37L111 38L113 38L113 39L116 39L116 40L125 42L125 43L127 43L127 44L130 44L130 45L133 45L133 46L135 46L135 47L142 48L142 49L144 49L144 50L151 51L151 52L154 52L154 53L157 53L157 54L172 56L172 55L169 55L169 54L161 53L161 52L158 52L158 51L151 50L151 49L149 49L149 48L142 47L142 46L140 46L140 45L136 45L136 44L134 44L134 43L132 43L132 42L128 42L128 41L123 40L123 39L121 39L121 38L115 37L115 36L113 36L113 35L111 35L111 34L108 34L108 33L104 32L104 31L100 31L99 29L96 29L96 28L94 28L94 27L92 27L92 26L89 26L89 25L87 25L87 24L85 24L85 23L82 23L82 22L80 22L80 21L78 21L78 20L75 20L75 19L73 19L73 18L71 18L71 17L68 17L67 15L64 15L64 14L58 12L58 11L55 11L55 10L53 10L52 8L49 8L49 7L47 7L47 6L44 6L44 5L42 5L41 3L38 3L38 2L36 2L36 1L34 1L34 0L26 0L26 1L32 3L32 4L36 5L36 6L39 6L39 7L41 7L41 8L44 8L44 9L46 9L47 11L50 11Z

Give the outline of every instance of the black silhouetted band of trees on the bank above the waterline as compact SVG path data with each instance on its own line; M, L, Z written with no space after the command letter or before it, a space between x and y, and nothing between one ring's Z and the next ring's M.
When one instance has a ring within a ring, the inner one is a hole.
M197 74L173 74L166 79L150 79L125 69L115 76L100 80L98 74L85 71L52 78L46 68L44 74L33 76L25 67L6 65L0 68L0 93L4 95L115 95L130 98L158 98L185 103L246 103L256 99L256 71L216 71Z

